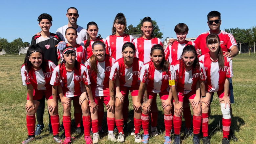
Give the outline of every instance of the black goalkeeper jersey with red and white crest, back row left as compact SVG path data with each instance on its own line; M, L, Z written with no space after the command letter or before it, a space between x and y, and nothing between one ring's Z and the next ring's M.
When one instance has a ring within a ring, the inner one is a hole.
M57 45L61 41L59 35L51 33L49 38L44 38L41 35L35 35L32 37L31 45L38 44L44 52L44 58L52 61L55 65L58 65L58 53Z

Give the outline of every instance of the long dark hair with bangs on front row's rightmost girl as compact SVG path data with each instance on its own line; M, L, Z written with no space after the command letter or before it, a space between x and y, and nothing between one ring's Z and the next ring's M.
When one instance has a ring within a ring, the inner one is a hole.
M220 38L217 34L211 33L206 37L206 44L208 45L208 44L214 44L214 43L220 44ZM223 56L223 52L220 45L218 50L218 63L219 63L219 68L224 68L224 56Z

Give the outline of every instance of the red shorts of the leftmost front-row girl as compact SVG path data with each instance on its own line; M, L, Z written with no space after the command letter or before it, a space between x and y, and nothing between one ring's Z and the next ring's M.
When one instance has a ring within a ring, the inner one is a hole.
M33 100L42 99L43 96L45 96L47 100L53 99L52 88L49 88L48 90L33 89ZM29 100L29 94L27 95L27 100Z

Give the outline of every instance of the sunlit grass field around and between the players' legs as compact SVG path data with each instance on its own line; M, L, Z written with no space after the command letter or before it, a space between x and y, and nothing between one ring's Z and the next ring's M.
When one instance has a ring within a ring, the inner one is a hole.
M0 56L0 143L16 144L21 143L27 138L26 128L26 111L25 104L27 98L27 89L22 86L20 67L24 61L24 55L18 56ZM232 105L233 119L232 129L235 130L235 135L239 141L231 141L231 144L256 144L256 54L238 55L233 59L233 88L235 96L235 104ZM47 104L46 104L47 105ZM149 143L164 142L164 122L163 112L158 98L158 130L162 133L159 136L152 137ZM45 109L46 110L46 109ZM72 127L74 127L74 109L72 109L73 119ZM217 96L214 97L211 108L211 116L209 117L209 134L211 144L221 144L222 131L220 125L222 120L220 104ZM62 106L59 103L60 121L62 121ZM184 120L184 119L183 119ZM45 128L42 134L36 137L32 144L54 143L53 136L49 135L48 131L48 114L45 111L44 124ZM103 129L107 132L106 114L103 121ZM133 127L133 110L130 104L128 129ZM75 134L72 129L72 136L76 138L73 144L85 143L83 136ZM182 124L184 130L184 123ZM63 131L60 132L60 135ZM141 131L143 133L143 131ZM128 134L126 134L127 136ZM182 133L183 136L183 133ZM107 140L107 133L100 135L100 144L112 143ZM125 143L134 143L134 136L128 135L125 138ZM183 138L182 144L191 144L192 137ZM202 143L202 141L201 141Z

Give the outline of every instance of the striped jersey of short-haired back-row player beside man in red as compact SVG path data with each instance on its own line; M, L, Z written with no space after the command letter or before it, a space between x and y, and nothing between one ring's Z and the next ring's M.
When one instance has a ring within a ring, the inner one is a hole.
M180 58L183 51L183 48L187 45L193 45L196 48L198 58L201 56L195 43L190 41L185 41L181 44L178 41L175 41L172 45L168 45L164 50L165 60L174 65Z

